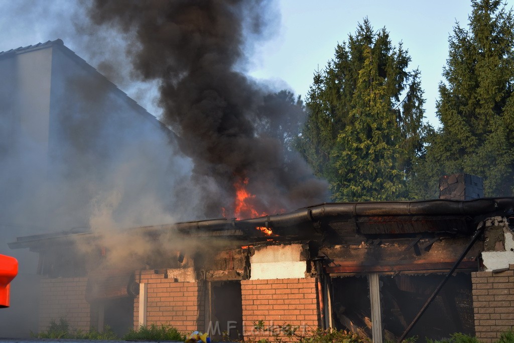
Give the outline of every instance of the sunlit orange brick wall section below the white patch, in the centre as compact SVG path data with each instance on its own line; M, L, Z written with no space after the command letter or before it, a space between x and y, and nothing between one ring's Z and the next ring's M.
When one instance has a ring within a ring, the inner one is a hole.
M318 327L316 279L272 279L241 281L243 333L245 338L266 338L253 322L265 326L291 324L300 330ZM269 337L268 337L269 338Z

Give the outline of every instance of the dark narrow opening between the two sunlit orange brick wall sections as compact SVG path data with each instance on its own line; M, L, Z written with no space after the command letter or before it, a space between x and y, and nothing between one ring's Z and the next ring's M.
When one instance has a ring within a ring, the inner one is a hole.
M243 302L240 281L210 282L210 323L213 339L219 339L226 332L231 340L240 339L243 334Z

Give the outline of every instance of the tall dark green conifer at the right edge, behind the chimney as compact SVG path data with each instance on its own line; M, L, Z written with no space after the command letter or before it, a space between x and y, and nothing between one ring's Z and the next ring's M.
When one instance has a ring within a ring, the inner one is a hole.
M468 28L458 23L439 84L442 128L418 161L416 197L432 197L438 177L484 177L486 196L514 194L514 19L500 0L473 0ZM419 191L421 190L421 191Z

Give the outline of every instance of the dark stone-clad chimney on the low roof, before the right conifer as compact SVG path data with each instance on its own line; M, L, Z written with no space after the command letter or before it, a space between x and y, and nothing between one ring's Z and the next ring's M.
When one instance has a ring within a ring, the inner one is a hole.
M470 174L451 174L439 178L439 199L470 200L484 197L484 180Z

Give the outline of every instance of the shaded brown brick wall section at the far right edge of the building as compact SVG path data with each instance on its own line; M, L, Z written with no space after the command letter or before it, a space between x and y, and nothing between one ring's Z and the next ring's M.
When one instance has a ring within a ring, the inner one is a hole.
M476 337L497 340L514 329L514 264L501 273L471 273Z

